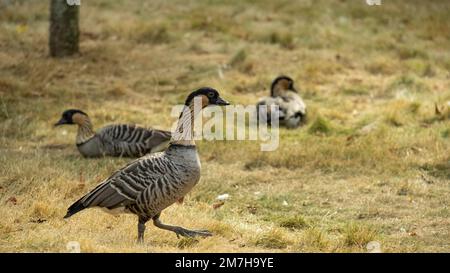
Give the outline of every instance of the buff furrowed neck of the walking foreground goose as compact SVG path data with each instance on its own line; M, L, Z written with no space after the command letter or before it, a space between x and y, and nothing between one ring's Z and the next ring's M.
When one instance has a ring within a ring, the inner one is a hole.
M201 100L193 99L188 106L183 108L178 119L177 128L172 134L170 145L195 146L194 121L203 107Z

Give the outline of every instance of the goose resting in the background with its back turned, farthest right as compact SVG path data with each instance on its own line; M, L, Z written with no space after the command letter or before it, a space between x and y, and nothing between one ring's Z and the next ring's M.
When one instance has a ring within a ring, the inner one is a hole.
M263 113L260 108L262 105L267 106L267 113ZM256 105L258 117L266 120L269 124L271 119L270 106L272 105L278 106L279 111L275 116L278 116L280 125L292 129L305 121L306 105L298 95L294 87L294 81L287 76L275 78L270 87L270 97L260 99Z

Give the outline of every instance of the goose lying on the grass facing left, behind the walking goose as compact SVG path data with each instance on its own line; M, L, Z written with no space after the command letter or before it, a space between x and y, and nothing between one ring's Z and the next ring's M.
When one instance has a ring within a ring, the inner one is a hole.
M164 150L171 137L168 131L132 124L109 125L95 132L89 116L77 109L64 111L55 126L63 124L78 125L76 144L78 151L85 157L140 157Z

